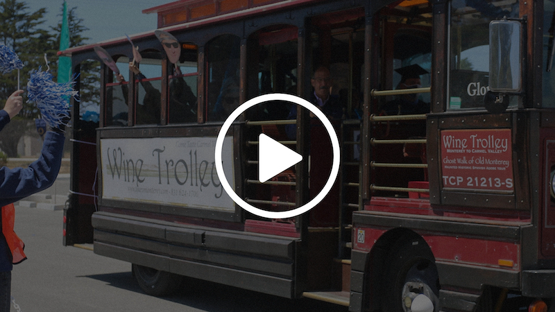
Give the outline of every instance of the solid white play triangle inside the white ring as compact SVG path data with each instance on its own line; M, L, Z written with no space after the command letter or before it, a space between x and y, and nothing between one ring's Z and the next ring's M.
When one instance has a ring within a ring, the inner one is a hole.
M302 155L261 133L258 136L258 180L264 183L302 160Z

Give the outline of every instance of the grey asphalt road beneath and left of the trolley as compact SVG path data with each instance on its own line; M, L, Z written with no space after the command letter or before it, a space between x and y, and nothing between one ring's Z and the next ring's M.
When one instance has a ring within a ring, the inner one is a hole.
M348 310L314 300L287 300L198 280L189 280L173 297L151 297L135 282L130 263L101 257L90 250L62 246L62 217L62 210L16 206L15 232L26 244L28 259L12 272L11 311Z

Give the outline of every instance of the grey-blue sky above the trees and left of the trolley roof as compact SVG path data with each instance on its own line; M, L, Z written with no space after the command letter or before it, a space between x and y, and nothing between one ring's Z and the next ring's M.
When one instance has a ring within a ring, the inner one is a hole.
M63 0L18 0L28 6L28 12L46 8L43 28L56 26L62 21ZM142 10L153 8L173 0L67 0L67 8L76 7L77 17L89 28L83 37L87 44L109 40L123 35L153 31L157 26L155 13L143 14Z

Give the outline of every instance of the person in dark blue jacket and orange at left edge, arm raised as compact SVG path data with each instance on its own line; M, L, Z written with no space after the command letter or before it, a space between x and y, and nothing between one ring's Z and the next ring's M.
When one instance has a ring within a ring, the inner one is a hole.
M17 90L0 110L0 130L23 107L23 90ZM23 242L13 232L13 202L50 187L60 171L64 148L65 123L46 132L40 157L27 168L0 168L0 312L10 311L12 264L26 259Z

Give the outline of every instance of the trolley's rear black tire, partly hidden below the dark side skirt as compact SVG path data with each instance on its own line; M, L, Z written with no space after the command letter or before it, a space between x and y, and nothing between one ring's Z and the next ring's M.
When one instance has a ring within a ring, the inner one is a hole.
M181 286L183 277L170 272L164 272L133 264L131 266L137 283L147 294L155 297L173 295Z

